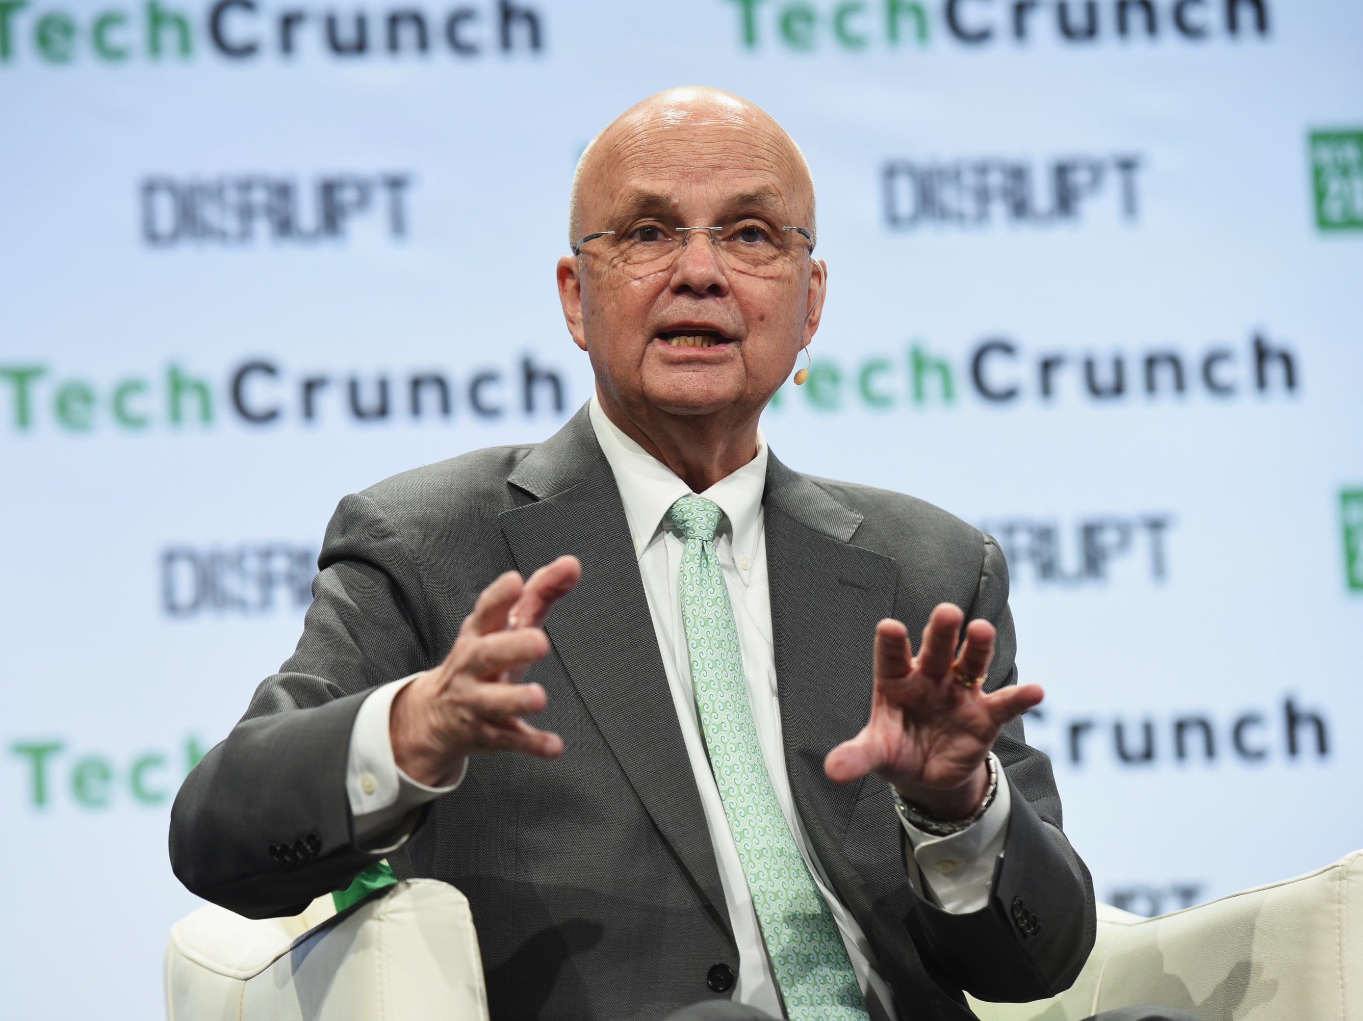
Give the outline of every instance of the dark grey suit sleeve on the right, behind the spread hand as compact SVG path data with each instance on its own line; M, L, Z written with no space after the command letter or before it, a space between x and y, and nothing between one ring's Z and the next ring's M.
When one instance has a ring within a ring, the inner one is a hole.
M985 537L984 566L966 619L998 628L987 690L1015 684L1017 635L1007 607L1007 564ZM1022 720L994 743L1013 793L1007 838L990 900L969 915L949 915L915 894L915 942L965 991L991 1002L1026 1002L1067 990L1084 968L1097 931L1093 881L1060 830L1060 796L1051 761L1030 747Z

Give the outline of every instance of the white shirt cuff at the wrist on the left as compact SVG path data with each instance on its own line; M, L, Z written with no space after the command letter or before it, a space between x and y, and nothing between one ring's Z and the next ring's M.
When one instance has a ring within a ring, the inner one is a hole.
M394 680L375 688L350 728L350 754L346 762L345 789L354 821L354 840L363 851L397 851L408 842L414 829L412 815L428 802L447 795L463 782L468 759L459 778L450 787L427 787L401 769L393 758L388 714L397 694L418 675ZM371 847L371 844L384 847Z

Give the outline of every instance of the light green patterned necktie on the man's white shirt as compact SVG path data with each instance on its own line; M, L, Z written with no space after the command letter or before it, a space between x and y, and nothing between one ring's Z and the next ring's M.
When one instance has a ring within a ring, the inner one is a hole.
M762 758L739 628L714 549L721 517L703 496L683 496L668 511L686 536L682 620L710 767L786 1013L792 1021L866 1021L846 946L800 857Z

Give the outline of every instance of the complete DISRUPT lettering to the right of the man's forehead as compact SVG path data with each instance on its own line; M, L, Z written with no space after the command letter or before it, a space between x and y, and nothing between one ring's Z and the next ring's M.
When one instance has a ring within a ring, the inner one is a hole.
M1032 165L1002 158L921 164L891 159L882 172L885 222L979 226L995 222L1051 226L1081 218L1085 203L1115 195L1122 219L1137 218L1138 155L1077 157ZM1115 180L1114 180L1115 179Z

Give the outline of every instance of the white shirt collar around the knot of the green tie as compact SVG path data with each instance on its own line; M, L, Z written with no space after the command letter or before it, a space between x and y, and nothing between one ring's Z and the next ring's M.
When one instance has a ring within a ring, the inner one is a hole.
M594 395L589 416L624 502L635 556L641 556L662 526L668 510L680 498L688 496L691 487L611 421ZM743 560L751 564L755 559L766 463L766 438L758 429L756 457L701 493L707 500L714 500L728 518L735 560L740 564ZM743 571L747 574L746 568Z

